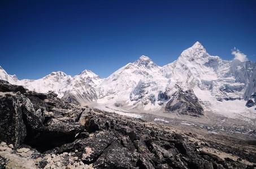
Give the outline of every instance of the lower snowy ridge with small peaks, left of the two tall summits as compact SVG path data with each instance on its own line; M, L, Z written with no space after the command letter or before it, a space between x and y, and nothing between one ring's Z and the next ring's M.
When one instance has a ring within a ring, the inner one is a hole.
M0 79L24 86L32 91L41 93L53 91L58 94L58 97L76 104L97 100L98 92L95 87L102 81L90 70L84 70L74 77L58 71L36 80L19 80L16 75L8 75L3 68L0 68Z

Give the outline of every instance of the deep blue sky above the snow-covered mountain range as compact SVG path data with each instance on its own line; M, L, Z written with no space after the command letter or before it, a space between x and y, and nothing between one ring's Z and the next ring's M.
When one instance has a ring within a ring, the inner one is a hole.
M199 41L256 61L256 1L0 0L0 65L23 78L90 69L107 77L140 55L162 66Z

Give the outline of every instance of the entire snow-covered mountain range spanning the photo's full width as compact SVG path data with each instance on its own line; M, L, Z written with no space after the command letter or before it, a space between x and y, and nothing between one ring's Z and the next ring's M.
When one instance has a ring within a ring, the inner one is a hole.
M41 79L19 81L2 68L0 71L0 79L37 92L51 90L76 104L129 112L256 118L256 63L211 56L199 42L173 63L158 66L142 55L105 79L84 70L73 77L53 72Z

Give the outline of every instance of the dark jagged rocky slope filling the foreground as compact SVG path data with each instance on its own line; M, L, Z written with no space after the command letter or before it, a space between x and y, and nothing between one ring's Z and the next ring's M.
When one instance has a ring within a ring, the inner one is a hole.
M0 168L256 168L256 147L68 104L0 81Z

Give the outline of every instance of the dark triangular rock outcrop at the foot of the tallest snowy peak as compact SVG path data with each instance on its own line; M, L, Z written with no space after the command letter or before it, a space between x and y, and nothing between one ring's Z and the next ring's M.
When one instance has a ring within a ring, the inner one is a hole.
M193 90L175 92L167 102L165 110L193 116L203 115L203 108Z

